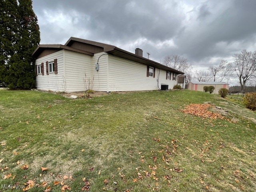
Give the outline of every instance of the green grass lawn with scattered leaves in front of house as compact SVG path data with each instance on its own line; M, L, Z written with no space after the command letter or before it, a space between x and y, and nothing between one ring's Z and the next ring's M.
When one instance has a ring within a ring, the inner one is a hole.
M226 119L181 111L204 102ZM255 192L255 153L256 112L235 96L0 91L0 192Z

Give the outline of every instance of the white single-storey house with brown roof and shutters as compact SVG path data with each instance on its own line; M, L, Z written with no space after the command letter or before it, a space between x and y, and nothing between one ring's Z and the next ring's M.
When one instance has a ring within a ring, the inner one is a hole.
M172 89L178 84L173 68L116 46L71 37L65 45L39 45L36 59L36 88L60 92L87 89L96 91L132 91Z

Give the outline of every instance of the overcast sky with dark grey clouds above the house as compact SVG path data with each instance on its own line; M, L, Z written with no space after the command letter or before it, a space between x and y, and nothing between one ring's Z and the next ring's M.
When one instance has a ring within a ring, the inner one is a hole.
M256 0L33 0L40 44L65 44L78 37L150 53L168 54L206 70L256 50Z

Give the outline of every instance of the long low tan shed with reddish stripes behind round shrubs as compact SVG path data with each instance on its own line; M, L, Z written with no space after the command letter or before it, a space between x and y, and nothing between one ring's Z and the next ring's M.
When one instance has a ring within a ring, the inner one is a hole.
M218 91L221 88L228 89L228 83L224 82L195 82L191 81L188 83L188 90L195 90L195 91L204 91L204 86L214 86L214 94L218 94Z

